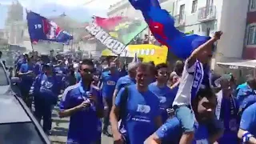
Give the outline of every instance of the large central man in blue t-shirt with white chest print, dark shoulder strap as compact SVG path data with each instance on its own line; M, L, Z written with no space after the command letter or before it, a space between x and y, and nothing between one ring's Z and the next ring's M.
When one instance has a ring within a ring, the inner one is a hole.
M110 112L114 142L143 143L162 125L158 97L148 90L150 64L140 63L136 70L136 85L123 87ZM118 118L124 129L118 130Z

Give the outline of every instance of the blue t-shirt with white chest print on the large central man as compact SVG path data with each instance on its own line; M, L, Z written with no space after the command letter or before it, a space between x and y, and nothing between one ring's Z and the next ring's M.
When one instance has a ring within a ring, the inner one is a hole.
M155 118L160 116L159 100L150 90L138 92L136 85L127 86L126 120L124 126L130 144L143 143L156 130ZM117 95L115 105L121 106L125 88Z

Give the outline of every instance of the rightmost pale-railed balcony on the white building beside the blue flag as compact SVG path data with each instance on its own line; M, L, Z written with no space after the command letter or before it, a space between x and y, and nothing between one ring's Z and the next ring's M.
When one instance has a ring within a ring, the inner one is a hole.
M216 18L216 6L205 6L198 9L198 21L212 21Z

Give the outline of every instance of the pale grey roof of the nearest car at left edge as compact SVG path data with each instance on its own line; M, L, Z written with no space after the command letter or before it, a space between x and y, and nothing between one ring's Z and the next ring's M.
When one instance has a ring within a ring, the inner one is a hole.
M13 122L31 122L30 117L18 99L12 94L0 95L0 124Z

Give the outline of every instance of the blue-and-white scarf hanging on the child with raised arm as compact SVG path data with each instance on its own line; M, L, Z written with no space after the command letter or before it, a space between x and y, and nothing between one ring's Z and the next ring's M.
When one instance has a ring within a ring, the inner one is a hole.
M198 90L202 83L203 74L204 74L204 70L202 67L202 63L197 60L197 62L195 62L194 78L193 78L193 84L191 88L191 100L193 100L198 93Z

